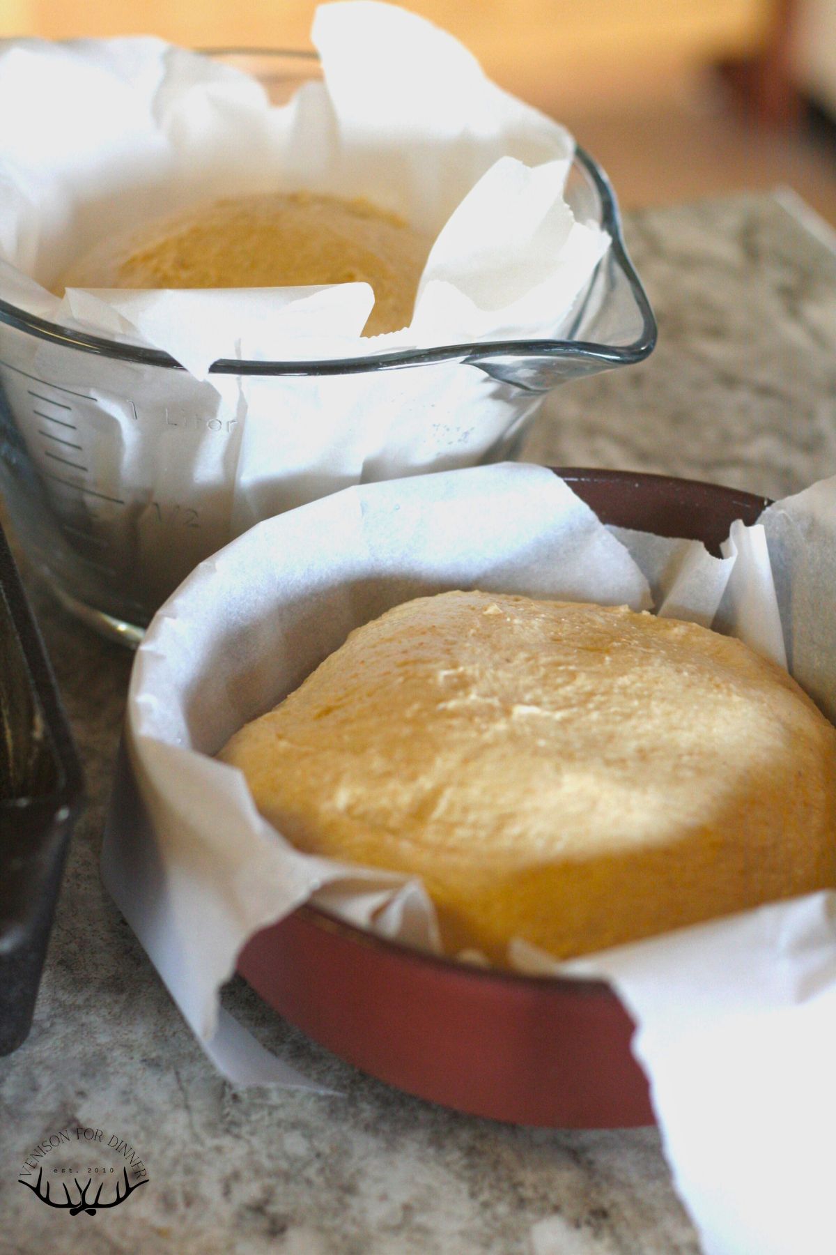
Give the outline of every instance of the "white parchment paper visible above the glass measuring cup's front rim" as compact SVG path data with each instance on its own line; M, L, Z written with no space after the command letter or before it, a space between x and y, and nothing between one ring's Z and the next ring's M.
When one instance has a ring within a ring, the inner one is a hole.
M312 39L323 80L285 105L158 39L0 43L0 108L15 118L0 146L0 295L165 349L198 378L217 358L362 356L367 284L313 290L313 305L308 289L48 290L109 232L305 188L366 197L435 238L412 328L371 351L553 334L608 243L563 200L565 128L400 8L323 5Z

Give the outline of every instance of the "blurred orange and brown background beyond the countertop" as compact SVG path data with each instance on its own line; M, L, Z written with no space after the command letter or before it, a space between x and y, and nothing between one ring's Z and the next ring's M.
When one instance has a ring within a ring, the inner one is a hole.
M0 0L0 35L308 46L315 0ZM795 188L836 226L836 0L410 0L564 122L627 208ZM431 89L431 84L427 84Z

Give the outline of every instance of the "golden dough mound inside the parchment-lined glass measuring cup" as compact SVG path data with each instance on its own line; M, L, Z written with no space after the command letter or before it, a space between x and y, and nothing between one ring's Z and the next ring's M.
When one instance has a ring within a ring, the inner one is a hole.
M412 320L430 241L368 201L312 192L231 197L113 236L65 287L306 287L365 281L366 335Z

